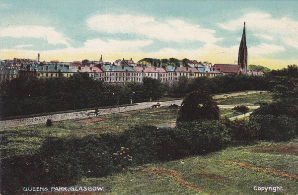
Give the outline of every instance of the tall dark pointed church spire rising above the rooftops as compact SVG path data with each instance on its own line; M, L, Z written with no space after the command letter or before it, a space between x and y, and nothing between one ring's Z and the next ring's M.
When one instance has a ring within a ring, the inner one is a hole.
M245 22L243 27L242 38L239 47L238 53L238 65L241 66L242 73L247 74L247 48L246 48L246 30L245 30Z

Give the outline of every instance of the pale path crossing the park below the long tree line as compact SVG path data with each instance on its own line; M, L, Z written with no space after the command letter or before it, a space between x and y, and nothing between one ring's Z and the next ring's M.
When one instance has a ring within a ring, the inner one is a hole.
M247 95L247 94L259 93L259 92L261 92L261 91L245 91L245 92L220 94L220 95L214 95L213 98L214 99L226 98L226 97ZM171 100L171 101L160 102L160 106L170 106L171 104L181 105L181 103L182 103L182 99L181 100ZM142 109L150 108L154 104L156 104L156 102L142 102L142 103L138 103L138 104L132 105L132 106L100 109L98 113L99 113L99 115L106 115L106 114L122 113L122 112L127 112L127 111L134 111L134 110L142 110ZM218 105L218 106L220 108L234 108L235 107L235 105ZM258 108L258 106L247 106L247 107L248 108ZM52 119L52 121L55 122L55 121L64 121L64 120L79 119L79 118L88 118L87 114L89 112L94 112L94 110L80 111L80 112L73 112L73 113L54 114L54 115L31 117L31 118L25 118L25 119L14 119L14 120L0 121L0 129L46 123L47 119Z

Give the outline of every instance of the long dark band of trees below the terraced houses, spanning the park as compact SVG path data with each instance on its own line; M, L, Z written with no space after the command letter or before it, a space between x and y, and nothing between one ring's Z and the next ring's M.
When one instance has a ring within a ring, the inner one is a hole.
M290 101L298 94L296 74L297 66L294 65L282 70L272 70L265 76L222 75L191 80L181 76L170 87L149 77L145 77L142 84L131 81L121 86L104 84L89 77L87 73L76 73L69 78L20 77L1 83L0 116L138 103L158 100L164 94L185 97L197 90L210 94L274 90L278 98Z

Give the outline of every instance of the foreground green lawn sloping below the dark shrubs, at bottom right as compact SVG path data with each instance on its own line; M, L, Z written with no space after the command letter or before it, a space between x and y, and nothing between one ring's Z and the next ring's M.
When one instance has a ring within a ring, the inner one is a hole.
M298 140L294 140L287 144L296 145L297 141ZM259 169L244 168L225 162L233 161L246 163L259 168L297 175L298 156L259 153L249 150L249 148L255 146L266 146L270 144L272 143L259 142L251 146L229 147L207 155L194 156L158 164L149 164L143 168L143 170L146 170L154 167L175 171L182 175L184 181L193 184L205 193L188 188L177 182L172 176L159 175L153 172L149 174L142 171L142 168L131 168L121 174L105 178L84 178L80 181L79 185L105 186L105 192L112 195L257 195L264 193L254 191L254 186L282 186L285 189L283 192L267 192L266 194L297 194L298 186L297 181L295 180ZM209 175L209 177L203 177L200 173ZM217 178L220 178L220 180Z

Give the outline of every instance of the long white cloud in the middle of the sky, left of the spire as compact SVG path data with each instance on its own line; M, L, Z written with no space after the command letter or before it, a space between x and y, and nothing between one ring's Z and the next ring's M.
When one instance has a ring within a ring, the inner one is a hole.
M183 20L154 20L153 17L124 15L95 15L87 19L87 27L97 32L133 33L161 41L181 42L185 40L216 43L222 38L216 38L211 29L201 28Z

